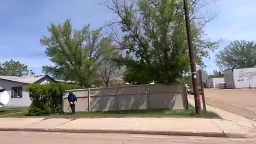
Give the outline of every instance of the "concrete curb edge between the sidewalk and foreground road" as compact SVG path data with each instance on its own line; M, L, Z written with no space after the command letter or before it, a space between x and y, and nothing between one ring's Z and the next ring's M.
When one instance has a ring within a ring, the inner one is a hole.
M247 133L224 133L224 132L194 132L194 131L144 131L144 130L112 130L112 129L64 129L64 128L0 128L0 131L35 131L35 132L64 132L64 133L128 133L150 134L167 136L205 136L227 138L251 138L255 137Z

